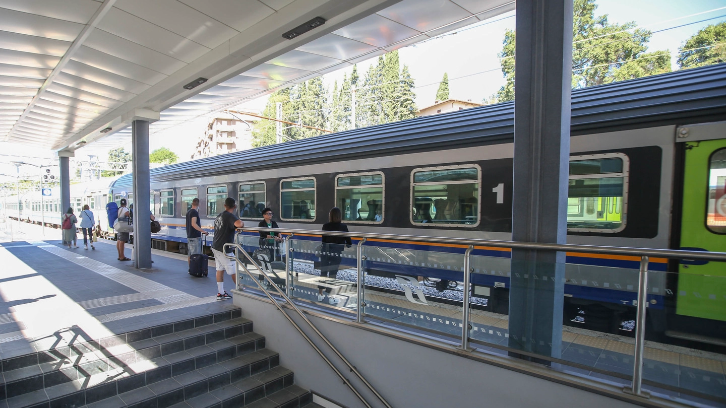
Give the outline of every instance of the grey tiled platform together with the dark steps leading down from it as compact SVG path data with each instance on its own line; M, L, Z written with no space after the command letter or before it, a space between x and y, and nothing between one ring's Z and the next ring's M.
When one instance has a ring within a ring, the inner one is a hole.
M18 227L0 231L1 408L319 407L217 300L213 262L192 277L187 256L152 250L139 271L115 241L69 249L47 239L60 230Z

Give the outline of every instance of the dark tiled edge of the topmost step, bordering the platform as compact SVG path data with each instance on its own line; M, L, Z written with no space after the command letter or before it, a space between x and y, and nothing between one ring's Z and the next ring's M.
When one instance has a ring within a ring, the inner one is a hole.
M60 356L72 358L73 356L77 356L78 354L82 354L86 351L97 350L99 348L109 348L122 344L135 343L137 341L147 340L150 338L168 335L175 332L200 328L207 325L215 325L231 319L243 319L242 310L232 309L216 314L196 317L195 319L187 319L180 322L147 327L142 330L134 330L131 332L122 333L120 335L113 335L107 338L73 343L73 345L70 346L61 346L57 348L52 348L51 350L47 351L36 351L33 353L24 354L23 356L3 359L0 362L0 372L17 370L18 368L29 367L35 364L54 362L57 361ZM247 321L250 322L249 320Z

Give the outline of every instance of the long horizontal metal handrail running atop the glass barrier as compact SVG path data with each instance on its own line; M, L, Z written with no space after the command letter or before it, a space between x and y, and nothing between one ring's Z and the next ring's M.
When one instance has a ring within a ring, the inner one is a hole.
M725 261L726 253L724 252L706 252L699 250L672 250L672 249L653 249L653 248L629 248L629 247L608 247L597 245L575 245L575 244L550 244L544 242L515 242L501 240L479 240L476 238L456 238L456 242L452 242L451 237L423 237L419 235L399 235L399 234L377 234L371 232L333 232L333 231L311 231L309 229L281 229L281 228L258 228L244 227L243 231L250 232L286 232L293 234L314 234L330 235L331 237L354 237L367 238L369 240L396 240L396 241L416 241L416 242L441 242L449 245L460 245L466 247L468 245L487 246L496 248L513 248L528 250L555 250L559 252L579 252L579 253L610 253L615 255L632 255L640 258L648 256L649 258L674 258L674 259L709 259L712 261ZM475 248L476 249L476 248Z

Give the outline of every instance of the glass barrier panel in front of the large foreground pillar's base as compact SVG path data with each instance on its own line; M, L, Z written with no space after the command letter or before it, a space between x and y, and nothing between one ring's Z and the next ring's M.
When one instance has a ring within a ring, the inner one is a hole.
M563 370L629 384L640 258L620 260L630 267L619 268L601 266L607 260L597 256L563 264L511 261L496 248L481 253L489 256L470 261L473 346L539 354ZM560 311L562 325L553 325Z

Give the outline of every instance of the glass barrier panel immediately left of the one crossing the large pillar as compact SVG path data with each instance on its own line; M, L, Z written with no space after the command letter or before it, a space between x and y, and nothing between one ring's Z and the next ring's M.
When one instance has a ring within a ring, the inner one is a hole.
M460 338L464 248L364 245L364 314L427 335ZM435 248L425 250L418 248Z

